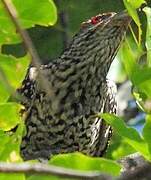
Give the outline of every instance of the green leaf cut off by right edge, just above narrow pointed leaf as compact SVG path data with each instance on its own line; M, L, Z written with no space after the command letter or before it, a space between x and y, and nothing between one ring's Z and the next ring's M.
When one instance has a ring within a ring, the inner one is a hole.
M148 144L148 149L151 154L151 115L146 116L146 123L143 128L143 137Z

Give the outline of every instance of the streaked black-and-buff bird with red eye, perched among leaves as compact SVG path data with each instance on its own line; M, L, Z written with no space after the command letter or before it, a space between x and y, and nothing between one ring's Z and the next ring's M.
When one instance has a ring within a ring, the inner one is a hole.
M106 76L130 22L126 11L98 14L81 24L58 58L28 69L18 89L26 114L24 160L104 154L112 128L97 114L116 114L116 85Z

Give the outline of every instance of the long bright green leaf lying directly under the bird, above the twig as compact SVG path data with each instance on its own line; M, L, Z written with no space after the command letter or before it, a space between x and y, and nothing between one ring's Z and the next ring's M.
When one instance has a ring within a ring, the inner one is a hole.
M69 153L53 156L50 164L83 171L101 171L113 176L120 173L121 166L104 158L92 158L81 153Z

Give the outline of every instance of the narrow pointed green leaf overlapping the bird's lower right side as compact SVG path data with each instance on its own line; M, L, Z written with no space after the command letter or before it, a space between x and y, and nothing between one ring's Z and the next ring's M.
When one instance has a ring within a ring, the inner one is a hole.
M127 127L124 121L115 115L105 113L99 116L111 124L117 133L124 138L125 142L140 152L146 159L151 159L147 143L134 128Z

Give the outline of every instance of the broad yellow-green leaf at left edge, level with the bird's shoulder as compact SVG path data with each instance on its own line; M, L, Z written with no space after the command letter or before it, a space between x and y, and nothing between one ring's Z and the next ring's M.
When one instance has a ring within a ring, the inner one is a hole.
M5 103L21 85L29 63L28 55L15 58L0 54L0 103Z

